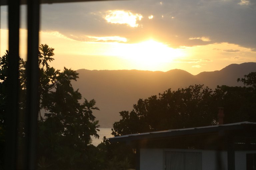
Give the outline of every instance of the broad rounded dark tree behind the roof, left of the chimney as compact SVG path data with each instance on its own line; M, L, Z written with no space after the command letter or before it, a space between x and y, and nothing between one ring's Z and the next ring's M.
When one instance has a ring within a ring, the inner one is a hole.
M212 125L217 109L212 110L212 94L208 87L194 85L176 91L168 89L158 97L139 99L131 112L120 112L122 119L114 123L112 134Z

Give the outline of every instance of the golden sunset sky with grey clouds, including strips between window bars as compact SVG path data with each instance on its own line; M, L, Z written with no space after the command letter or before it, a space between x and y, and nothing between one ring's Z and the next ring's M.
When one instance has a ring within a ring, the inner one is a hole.
M26 56L26 7L21 7ZM1 7L1 55L7 46ZM55 48L52 66L191 74L256 62L254 0L122 0L41 5L40 43Z

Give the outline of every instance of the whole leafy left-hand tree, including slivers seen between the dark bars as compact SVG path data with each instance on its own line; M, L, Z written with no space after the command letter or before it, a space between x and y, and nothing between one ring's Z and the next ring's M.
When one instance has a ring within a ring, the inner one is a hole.
M78 78L76 71L64 67L63 71L50 67L54 60L54 49L46 44L39 47L40 72L40 105L39 105L39 144L38 169L100 169L97 160L98 149L91 145L91 136L99 137L98 121L92 114L95 100L83 99L78 90L74 90L71 81ZM8 54L0 58L0 142L1 151L4 147L5 134L5 97L6 70L8 68ZM20 58L20 114L24 111L26 102L26 61ZM19 126L23 134L22 120ZM21 135L19 141L22 142ZM22 144L21 144L22 145ZM92 156L95 154L94 156ZM4 155L4 154L1 154ZM3 159L1 159L2 161Z

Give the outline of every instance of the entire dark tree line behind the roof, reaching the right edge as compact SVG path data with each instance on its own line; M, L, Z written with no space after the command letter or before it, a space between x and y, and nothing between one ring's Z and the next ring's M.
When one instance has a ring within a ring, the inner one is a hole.
M113 124L115 136L149 131L216 125L218 107L224 107L224 123L256 122L256 73L245 75L244 87L217 86L212 90L191 85L158 96L139 99L132 111L122 111Z

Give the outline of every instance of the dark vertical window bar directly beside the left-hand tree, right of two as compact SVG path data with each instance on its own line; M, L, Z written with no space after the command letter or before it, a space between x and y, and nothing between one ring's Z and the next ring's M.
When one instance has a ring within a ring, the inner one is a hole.
M28 60L27 60L27 168L36 169L37 116L39 111L39 0L27 0Z

